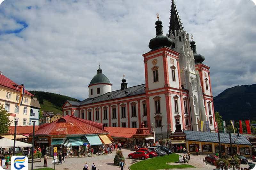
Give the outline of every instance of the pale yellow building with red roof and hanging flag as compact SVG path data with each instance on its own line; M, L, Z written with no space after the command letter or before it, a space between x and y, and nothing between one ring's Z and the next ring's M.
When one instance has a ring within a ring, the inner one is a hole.
M24 85L13 82L0 72L0 104L4 105L5 110L10 113L11 126L14 126L14 120L18 120L18 126L29 125L30 103L33 95L24 90L22 104L20 101L20 90Z

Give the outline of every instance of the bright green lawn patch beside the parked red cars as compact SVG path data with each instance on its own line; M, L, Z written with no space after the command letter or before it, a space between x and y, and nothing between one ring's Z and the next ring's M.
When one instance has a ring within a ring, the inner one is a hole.
M165 155L159 156L156 158L151 158L147 160L143 160L132 164L130 166L131 170L151 170L151 169L176 169L176 168L195 168L195 166L188 164L180 164L180 165L168 165L166 163L173 163L179 161L179 155L172 153L169 156Z

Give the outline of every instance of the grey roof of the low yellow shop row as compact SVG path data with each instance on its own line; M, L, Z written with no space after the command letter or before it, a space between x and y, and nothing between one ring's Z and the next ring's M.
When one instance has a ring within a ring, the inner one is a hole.
M186 140L200 141L200 142L213 142L218 143L218 133L213 132L198 132L192 130L184 130L186 134ZM252 145L245 135L231 134L231 141L233 144ZM230 143L228 133L220 133L220 143Z

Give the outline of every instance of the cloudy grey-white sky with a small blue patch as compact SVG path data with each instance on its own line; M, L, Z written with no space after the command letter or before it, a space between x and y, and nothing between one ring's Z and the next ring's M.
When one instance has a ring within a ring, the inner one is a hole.
M250 0L176 0L184 29L211 67L213 96L256 82L256 6ZM5 0L0 5L0 71L27 90L83 100L100 67L120 89L145 83L142 54L168 32L170 0Z

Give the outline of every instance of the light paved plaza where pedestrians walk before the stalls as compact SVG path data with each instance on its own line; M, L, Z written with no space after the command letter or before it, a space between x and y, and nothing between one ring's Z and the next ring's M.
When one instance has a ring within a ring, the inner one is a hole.
M125 157L125 163L126 166L124 169L128 170L128 167L132 164L132 159L128 158L128 154L132 153L134 151L130 151L127 149L122 149L123 155ZM110 155L97 155L94 157L86 157L86 158L66 158L65 163L62 164L56 164L55 169L56 170L76 170L76 169L83 169L85 162L88 163L90 169L92 166L92 163L94 162L97 170L115 170L120 169L119 166L114 166L114 157L116 155L116 151L113 151ZM181 155L181 154L180 154ZM215 168L215 166L211 165L210 163L207 163L207 165L203 162L203 158L205 155L196 156L191 155L191 159L189 161L189 165L195 166L196 168L189 168L189 169L195 169L195 170L212 170ZM251 160L249 160L251 161ZM175 163L177 164L177 163ZM47 165L48 167L54 168L54 164L52 164L52 159L47 159ZM34 169L42 168L43 167L43 159L41 159L41 162L35 162L34 163ZM241 165L241 167L248 167L248 165ZM29 169L31 169L31 163L29 164ZM185 169L184 169L185 170ZM186 169L187 170L187 169Z

